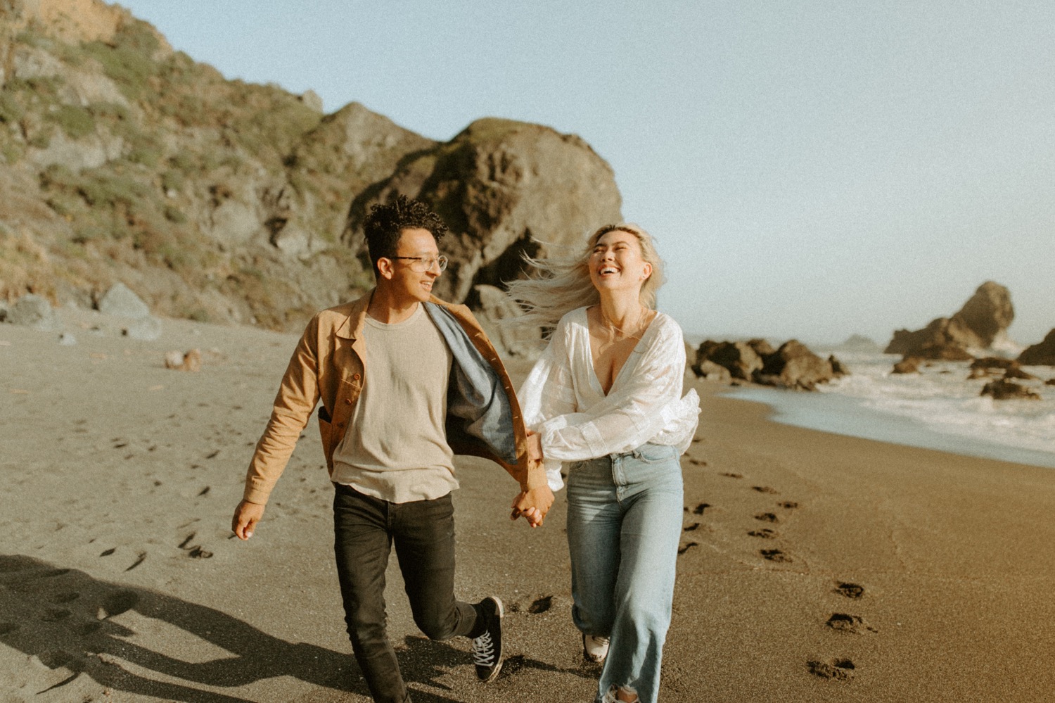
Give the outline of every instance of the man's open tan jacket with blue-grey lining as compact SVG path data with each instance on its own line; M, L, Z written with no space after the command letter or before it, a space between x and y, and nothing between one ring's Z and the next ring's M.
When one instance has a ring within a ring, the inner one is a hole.
M366 349L362 332L371 294L322 310L305 328L249 464L244 494L249 502L267 502L320 399L319 431L332 475L333 450L363 391ZM448 401L446 426L452 451L495 461L517 479L521 490L545 484L542 464L529 466L526 432L513 383L476 318L466 306L435 296L425 308L455 357L450 379L455 396ZM459 395L460 388L465 392Z

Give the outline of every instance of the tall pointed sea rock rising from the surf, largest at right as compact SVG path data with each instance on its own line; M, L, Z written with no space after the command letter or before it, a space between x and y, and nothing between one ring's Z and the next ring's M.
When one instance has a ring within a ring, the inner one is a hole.
M936 318L923 329L899 329L884 349L921 359L967 361L985 349L1006 344L1006 330L1015 319L1011 292L986 281L952 318Z

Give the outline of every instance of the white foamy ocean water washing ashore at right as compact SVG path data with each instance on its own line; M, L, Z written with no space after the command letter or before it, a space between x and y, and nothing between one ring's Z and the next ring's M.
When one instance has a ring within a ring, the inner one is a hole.
M1025 366L1039 380L1016 380L1041 400L993 400L980 395L992 379L967 380L968 362L898 375L890 369L900 356L835 354L850 375L819 393L752 386L729 395L770 405L786 424L1055 469L1055 386L1043 384L1055 368Z

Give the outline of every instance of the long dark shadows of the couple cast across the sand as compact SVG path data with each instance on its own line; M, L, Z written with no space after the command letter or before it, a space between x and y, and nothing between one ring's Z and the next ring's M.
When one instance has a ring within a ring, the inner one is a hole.
M136 633L113 620L128 611L173 625L230 656L195 663L134 643L128 638ZM99 581L83 571L56 568L18 554L0 555L0 642L36 657L49 668L71 672L37 691L41 694L88 676L114 690L171 701L252 703L198 686L234 687L293 677L369 698L350 652L289 643L212 608L153 590ZM404 642L405 648L397 656L406 681L418 684L411 692L416 703L450 701L421 690L419 685L447 689L443 677L453 668L468 665L467 652L425 638L407 636ZM126 662L167 680L133 672L126 668ZM544 662L514 657L506 660L502 677L524 669L557 670Z

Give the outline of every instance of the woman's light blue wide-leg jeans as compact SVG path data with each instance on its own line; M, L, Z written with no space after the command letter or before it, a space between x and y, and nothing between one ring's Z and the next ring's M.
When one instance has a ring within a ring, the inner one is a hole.
M572 619L584 634L611 638L598 703L613 685L636 691L641 703L658 695L682 493L673 446L646 443L569 467Z

